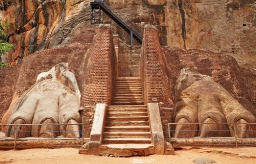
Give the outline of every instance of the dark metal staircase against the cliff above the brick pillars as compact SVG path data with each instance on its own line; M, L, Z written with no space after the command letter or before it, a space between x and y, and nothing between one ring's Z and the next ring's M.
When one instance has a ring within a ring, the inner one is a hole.
M119 26L121 26L127 33L130 35L130 45L133 45L133 39L136 39L140 44L142 44L141 35L128 26L124 21L112 13L106 6L104 6L104 0L92 0L91 2L91 24L102 24L104 21L103 11L106 13L112 20L115 21Z

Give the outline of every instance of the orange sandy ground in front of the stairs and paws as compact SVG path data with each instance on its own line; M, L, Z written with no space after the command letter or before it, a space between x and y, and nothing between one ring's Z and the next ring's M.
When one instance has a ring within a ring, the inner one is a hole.
M255 148L201 148L175 151L175 155L100 157L78 154L78 149L29 149L0 151L0 164L194 164L198 157L216 164L256 164Z

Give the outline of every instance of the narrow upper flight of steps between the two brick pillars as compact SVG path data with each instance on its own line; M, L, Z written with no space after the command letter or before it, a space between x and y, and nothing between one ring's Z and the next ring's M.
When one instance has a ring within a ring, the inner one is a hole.
M115 79L112 105L143 105L140 77L117 77Z

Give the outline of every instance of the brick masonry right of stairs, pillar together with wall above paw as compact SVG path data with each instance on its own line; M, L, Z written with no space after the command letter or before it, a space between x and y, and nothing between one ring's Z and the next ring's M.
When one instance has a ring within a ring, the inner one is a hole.
M172 50L160 46L158 30L146 26L142 48L141 70L146 102L160 103L165 138L168 123L173 122L175 81L182 68L208 75L221 84L247 110L256 115L255 69L240 68L231 56L203 50Z

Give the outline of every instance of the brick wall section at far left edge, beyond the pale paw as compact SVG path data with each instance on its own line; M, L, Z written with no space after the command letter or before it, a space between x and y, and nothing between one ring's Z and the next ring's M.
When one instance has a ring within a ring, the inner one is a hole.
M20 66L0 69L0 122L11 104Z

